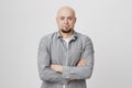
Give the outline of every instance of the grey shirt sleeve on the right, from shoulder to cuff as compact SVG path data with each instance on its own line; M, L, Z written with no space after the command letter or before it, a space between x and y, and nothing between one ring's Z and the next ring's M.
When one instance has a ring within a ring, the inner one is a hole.
M66 79L88 79L91 77L94 69L94 46L89 37L85 41L85 47L81 58L87 61L85 66L63 66L63 77Z

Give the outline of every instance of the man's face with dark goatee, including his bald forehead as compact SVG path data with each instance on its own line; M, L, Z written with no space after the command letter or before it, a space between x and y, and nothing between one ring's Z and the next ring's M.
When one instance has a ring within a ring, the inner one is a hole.
M75 13L70 9L61 9L57 13L57 25L63 33L70 33L76 22Z

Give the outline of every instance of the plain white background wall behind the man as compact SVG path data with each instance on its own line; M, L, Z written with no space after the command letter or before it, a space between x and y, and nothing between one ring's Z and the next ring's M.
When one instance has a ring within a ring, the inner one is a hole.
M88 88L132 88L131 0L0 0L0 88L40 88L37 47L57 31L56 11L70 6L76 31L91 37Z

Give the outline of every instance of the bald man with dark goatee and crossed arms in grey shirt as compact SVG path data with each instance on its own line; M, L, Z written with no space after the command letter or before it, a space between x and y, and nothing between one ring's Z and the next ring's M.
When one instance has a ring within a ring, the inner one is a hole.
M94 46L89 36L74 30L75 11L57 11L58 31L44 35L38 45L41 88L87 88L94 69Z

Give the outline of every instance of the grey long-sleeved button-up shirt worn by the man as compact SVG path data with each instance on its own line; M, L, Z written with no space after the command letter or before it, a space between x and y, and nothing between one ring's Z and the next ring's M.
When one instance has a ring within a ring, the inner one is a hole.
M87 59L85 66L77 66L80 59ZM51 64L63 65L63 73L51 69ZM87 88L86 79L94 69L94 46L91 40L74 31L68 47L59 32L42 37L38 45L37 65L41 88Z

